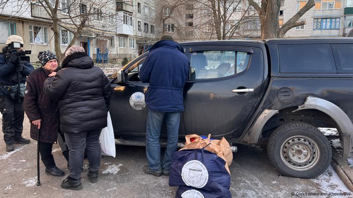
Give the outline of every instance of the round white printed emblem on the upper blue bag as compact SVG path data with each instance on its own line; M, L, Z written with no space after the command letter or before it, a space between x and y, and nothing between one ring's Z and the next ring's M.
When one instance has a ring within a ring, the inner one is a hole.
M191 160L183 166L182 178L185 184L202 188L208 181L208 171L200 161Z

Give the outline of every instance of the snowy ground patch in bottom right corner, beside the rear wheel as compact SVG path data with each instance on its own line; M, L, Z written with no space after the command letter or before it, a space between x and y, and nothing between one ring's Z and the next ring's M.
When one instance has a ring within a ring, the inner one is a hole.
M323 174L317 176L312 180L324 192L331 192L331 193L350 192L350 190L344 185L343 181L339 178L339 176L334 171L331 165ZM335 196L331 196L331 197L335 197Z

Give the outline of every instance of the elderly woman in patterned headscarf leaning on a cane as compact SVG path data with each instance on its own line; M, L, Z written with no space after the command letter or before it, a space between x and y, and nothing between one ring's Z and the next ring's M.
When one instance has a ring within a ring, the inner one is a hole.
M31 138L38 140L39 131L39 151L45 172L53 176L64 176L65 173L56 167L51 154L52 145L57 141L57 102L43 92L44 80L54 76L57 71L57 58L51 51L41 51L38 59L42 67L35 69L27 78L24 110L31 122Z

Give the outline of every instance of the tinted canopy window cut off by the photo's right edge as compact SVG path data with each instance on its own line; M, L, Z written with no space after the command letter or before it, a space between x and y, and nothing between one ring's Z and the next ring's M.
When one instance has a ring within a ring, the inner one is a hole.
M353 73L353 44L332 44L338 73Z

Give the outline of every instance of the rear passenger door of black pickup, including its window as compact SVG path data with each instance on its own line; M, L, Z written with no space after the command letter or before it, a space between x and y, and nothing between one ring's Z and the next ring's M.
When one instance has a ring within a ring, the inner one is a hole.
M185 86L186 134L225 135L240 127L258 100L263 52L244 46L190 46Z

